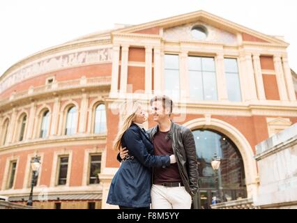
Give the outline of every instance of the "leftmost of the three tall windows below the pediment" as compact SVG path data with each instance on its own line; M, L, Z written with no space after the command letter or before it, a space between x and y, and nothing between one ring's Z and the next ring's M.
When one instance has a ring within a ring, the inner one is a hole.
M165 93L172 98L179 98L179 63L178 55L165 54Z

